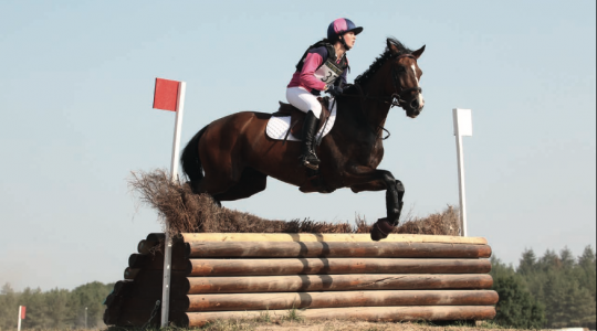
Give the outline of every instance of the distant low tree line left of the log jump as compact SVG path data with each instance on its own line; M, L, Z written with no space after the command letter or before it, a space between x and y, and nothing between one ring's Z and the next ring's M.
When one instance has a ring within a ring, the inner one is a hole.
M10 284L0 290L0 331L15 330L19 306L25 306L25 319L21 329L84 329L105 327L104 299L114 289L114 284L98 281L82 285L73 290L25 288L17 292Z

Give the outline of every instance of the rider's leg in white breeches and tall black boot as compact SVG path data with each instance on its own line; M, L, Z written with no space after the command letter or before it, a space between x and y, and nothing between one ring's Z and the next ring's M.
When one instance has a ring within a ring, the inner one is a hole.
M307 168L317 169L320 159L315 154L313 140L322 114L322 104L320 104L316 96L302 87L290 87L286 89L286 99L291 105L307 114L303 125L303 135L301 137L303 143L301 162Z

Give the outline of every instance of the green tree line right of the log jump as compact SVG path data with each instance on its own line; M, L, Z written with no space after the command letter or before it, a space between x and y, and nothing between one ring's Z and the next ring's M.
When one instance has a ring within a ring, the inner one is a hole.
M596 255L587 246L537 257L525 249L517 268L492 257L493 289L500 295L495 322L517 329L596 329Z

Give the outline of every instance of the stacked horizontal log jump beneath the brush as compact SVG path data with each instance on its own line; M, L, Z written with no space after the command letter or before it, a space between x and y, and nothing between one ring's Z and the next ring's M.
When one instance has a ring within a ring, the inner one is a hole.
M106 298L108 325L160 324L164 234L130 255ZM161 247L161 248L160 248ZM172 244L169 322L220 319L490 320L485 238L390 234L181 234Z

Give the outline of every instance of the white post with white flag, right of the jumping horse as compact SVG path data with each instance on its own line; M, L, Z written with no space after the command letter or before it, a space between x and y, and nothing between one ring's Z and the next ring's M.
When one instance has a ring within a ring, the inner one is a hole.
M467 221L467 194L464 191L464 153L462 150L462 137L472 136L472 114L471 109L452 110L454 120L454 136L457 137L458 156L458 186L460 191L460 224L462 226L462 236L469 236Z

